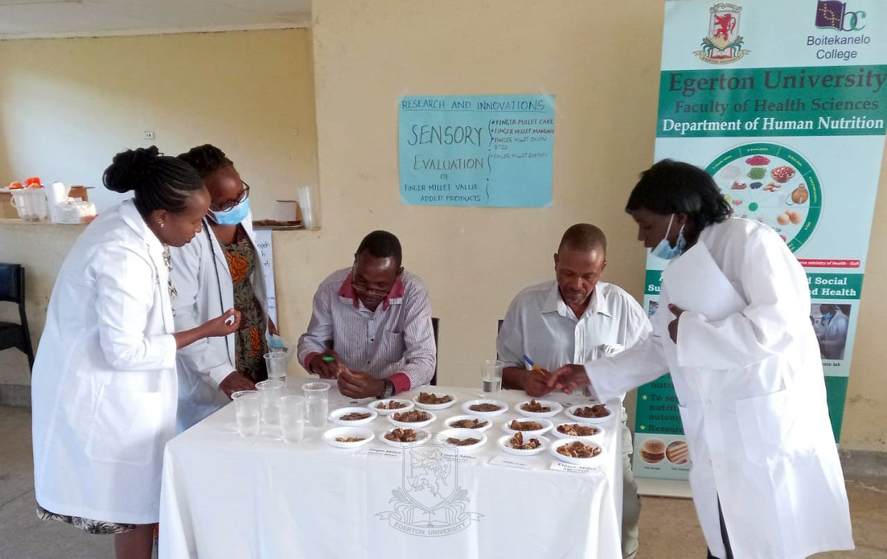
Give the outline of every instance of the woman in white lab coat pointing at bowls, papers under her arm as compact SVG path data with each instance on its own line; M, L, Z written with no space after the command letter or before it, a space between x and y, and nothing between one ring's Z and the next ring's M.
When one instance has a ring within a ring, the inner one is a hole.
M590 383L606 400L671 372L710 557L852 549L804 269L776 232L729 217L711 177L687 163L642 173L626 211L638 239L671 265L697 244L707 250L742 308L718 320L679 309L668 294L688 287L669 285L666 271L653 335L616 357L562 367L552 385Z

